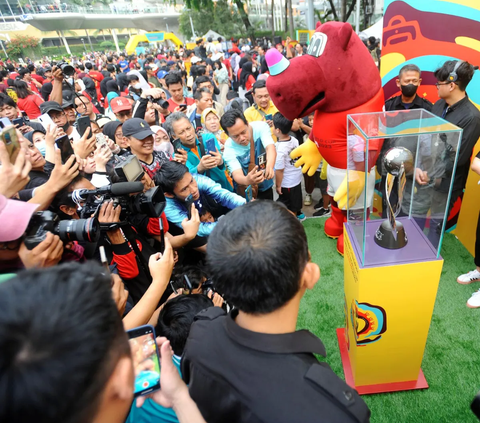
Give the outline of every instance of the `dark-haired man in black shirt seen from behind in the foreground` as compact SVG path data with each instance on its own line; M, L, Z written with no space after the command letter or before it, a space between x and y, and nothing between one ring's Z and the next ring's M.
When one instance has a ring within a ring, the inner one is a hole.
M320 277L305 231L283 205L254 201L232 210L210 235L216 290L235 305L200 313L182 374L203 417L216 422L367 422L355 390L314 354L320 339L295 331L300 300Z

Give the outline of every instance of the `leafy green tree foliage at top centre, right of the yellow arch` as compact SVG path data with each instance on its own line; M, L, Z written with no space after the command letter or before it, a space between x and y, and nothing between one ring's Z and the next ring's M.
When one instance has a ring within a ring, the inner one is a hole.
M202 8L182 12L178 19L180 32L188 39L192 38L190 17L197 36L201 36L211 29L224 37L230 38L234 34L245 30L237 9L230 6L226 0L217 1L213 4L212 9Z

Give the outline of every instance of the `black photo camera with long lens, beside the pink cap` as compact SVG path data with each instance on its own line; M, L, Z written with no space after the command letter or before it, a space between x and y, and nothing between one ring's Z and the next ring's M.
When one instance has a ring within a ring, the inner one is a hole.
M51 211L40 211L33 214L27 228L25 246L32 250L45 240L47 233L58 235L64 242L86 241L97 242L100 238L100 224L97 219L60 220Z

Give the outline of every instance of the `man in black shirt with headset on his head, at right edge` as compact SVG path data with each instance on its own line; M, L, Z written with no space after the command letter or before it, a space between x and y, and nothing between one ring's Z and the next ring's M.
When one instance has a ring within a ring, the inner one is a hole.
M473 148L480 137L480 111L465 91L476 69L478 67L468 62L449 60L435 71L440 100L433 105L432 113L463 129L450 208L465 188ZM428 182L419 181L418 177L416 179L420 184Z

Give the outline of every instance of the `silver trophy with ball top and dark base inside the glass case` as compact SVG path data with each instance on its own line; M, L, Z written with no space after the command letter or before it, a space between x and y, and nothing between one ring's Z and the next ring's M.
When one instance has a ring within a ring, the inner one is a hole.
M383 165L387 173L385 180L385 195L387 203L387 216L375 232L375 242L380 247L396 250L405 247L408 239L401 222L395 220L400 213L403 201L403 192L407 181L407 173L413 171L413 156L405 147L393 147L387 151L383 158ZM390 196L397 182L398 198L396 204L390 203Z

